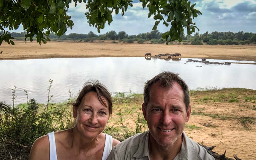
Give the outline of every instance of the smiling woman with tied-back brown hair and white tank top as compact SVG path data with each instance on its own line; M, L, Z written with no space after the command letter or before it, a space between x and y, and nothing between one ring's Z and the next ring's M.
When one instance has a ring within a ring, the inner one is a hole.
M33 144L30 160L107 159L118 140L102 133L112 114L112 98L98 81L85 83L73 104L75 127L48 133Z

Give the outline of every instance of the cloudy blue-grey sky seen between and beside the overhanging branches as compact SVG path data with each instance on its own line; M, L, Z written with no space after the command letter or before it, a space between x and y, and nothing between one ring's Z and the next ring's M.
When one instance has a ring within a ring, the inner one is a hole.
M206 31L218 32L256 32L256 0L191 0L191 4L195 5L195 9L201 11L202 15L193 20L200 29L199 34ZM95 27L90 27L84 15L86 6L84 3L71 3L68 9L68 15L74 22L72 30L68 28L66 34L82 33L87 34L93 31L99 34ZM110 30L125 31L128 35L151 32L155 20L153 16L148 17L148 8L143 10L142 3L139 0L133 1L133 7L128 7L127 12L122 16L112 13L113 21L110 26L106 23L105 28L101 29L100 34L104 34ZM15 32L21 32L23 27L19 27ZM166 32L170 29L162 23L157 28L160 32ZM197 30L196 30L197 31ZM185 34L187 30L185 28Z

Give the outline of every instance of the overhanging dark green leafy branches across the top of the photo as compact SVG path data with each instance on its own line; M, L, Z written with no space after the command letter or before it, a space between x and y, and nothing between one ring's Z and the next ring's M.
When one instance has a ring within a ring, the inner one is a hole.
M121 10L122 16L125 14L128 6L132 5L132 0L73 0L75 6L78 3L84 3L87 9L85 16L90 26L94 26L100 32L100 29L113 21L111 13L115 14ZM202 13L194 9L195 4L191 5L188 0L140 0L143 9L149 9L148 18L154 15L155 25L153 30L162 21L165 26L171 24L169 31L162 34L162 38L169 41L182 41L181 36L184 33L184 28L187 28L187 33L195 32L195 23L192 22L198 15ZM26 30L25 42L29 38L36 35L37 42L46 43L50 40L50 33L58 36L63 35L67 28L72 29L73 21L68 15L67 10L71 0L0 0L0 45L3 40L8 44L14 45L11 40L13 37L4 30L17 29L20 24ZM199 29L198 29L199 31ZM167 42L168 44L168 42Z

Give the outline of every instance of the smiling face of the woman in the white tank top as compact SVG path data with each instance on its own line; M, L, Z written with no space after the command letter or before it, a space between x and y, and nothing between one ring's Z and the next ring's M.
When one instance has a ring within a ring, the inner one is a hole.
M97 93L91 91L83 97L78 108L73 107L73 117L76 118L78 131L86 137L94 138L105 129L109 110L100 103Z

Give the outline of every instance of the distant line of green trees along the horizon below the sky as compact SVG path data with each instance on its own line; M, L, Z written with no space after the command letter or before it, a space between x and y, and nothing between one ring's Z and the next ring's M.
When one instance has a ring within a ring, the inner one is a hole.
M11 36L13 37L25 37L26 32L11 32ZM50 38L52 40L79 40L84 42L93 42L93 40L119 40L123 42L133 43L137 41L138 43L144 43L145 41L151 41L151 43L165 43L165 40L162 39L162 33L159 30L153 30L147 33L140 33L138 35L128 35L125 31L120 31L116 33L116 31L111 30L106 32L105 34L94 34L90 31L88 34L78 34L78 33L70 33L67 35L57 36L55 34L50 34ZM237 33L234 32L211 32L208 31L199 34L198 32L194 35L183 35L183 44L192 44L192 45L202 45L203 42L208 45L245 45L245 44L256 44L256 34L252 32L243 32L239 31Z

